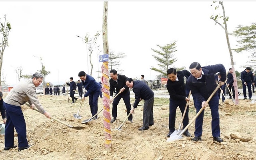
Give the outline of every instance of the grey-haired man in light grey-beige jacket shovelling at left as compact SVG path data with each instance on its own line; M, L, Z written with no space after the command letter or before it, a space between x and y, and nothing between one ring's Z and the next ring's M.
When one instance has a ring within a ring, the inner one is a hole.
M36 87L38 87L42 81L43 75L35 73L32 75L31 79L25 79L17 83L4 99L7 119L4 134L4 150L17 147L14 146L14 127L18 134L18 150L24 150L31 146L28 145L26 122L21 110L21 105L28 102L31 109L36 107L45 117L51 118L50 113L44 110L36 97Z

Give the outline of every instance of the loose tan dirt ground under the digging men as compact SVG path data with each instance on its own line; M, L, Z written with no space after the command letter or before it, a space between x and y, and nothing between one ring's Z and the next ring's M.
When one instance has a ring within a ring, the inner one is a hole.
M4 95L5 97L6 95ZM256 103L240 100L234 105L231 100L220 103L220 131L224 142L217 144L212 140L210 109L204 113L202 141L193 142L184 137L181 140L166 142L168 133L169 99L155 98L154 125L149 130L139 131L142 126L142 106L135 110L133 123L128 120L122 130L114 130L126 118L124 102L118 105L117 121L111 124L112 151L106 152L104 146L103 114L97 120L81 124L82 120L92 117L88 98L82 105L76 120L81 100L68 103L67 96L38 95L43 107L52 115L72 126L84 126L83 130L69 128L44 115L22 106L27 126L29 144L27 150L17 148L5 151L4 136L0 135L0 159L2 160L253 160L256 158ZM131 103L134 99L131 99ZM141 102L142 103L142 102ZM112 106L112 105L111 105ZM99 111L102 109L99 99ZM110 113L111 113L110 109ZM190 102L190 120L196 115ZM180 124L181 114L176 113L176 129ZM189 131L194 136L194 122ZM18 144L15 136L15 145Z

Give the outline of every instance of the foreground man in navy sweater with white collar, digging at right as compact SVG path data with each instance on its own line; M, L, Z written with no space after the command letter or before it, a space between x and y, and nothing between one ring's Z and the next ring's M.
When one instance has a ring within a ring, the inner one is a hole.
M215 82L214 74L220 72L220 85L224 85L226 81L226 69L222 64L208 65L201 67L198 62L191 63L190 67L191 75L188 77L187 83L191 90L191 94L196 97L196 113L201 108L205 107L206 100L210 97L213 91L216 89L217 84ZM219 115L219 98L215 93L208 103L211 109L212 115L212 136L213 140L217 142L223 142L220 138L220 115ZM202 140L203 131L204 110L196 118L195 124L195 137L191 140Z

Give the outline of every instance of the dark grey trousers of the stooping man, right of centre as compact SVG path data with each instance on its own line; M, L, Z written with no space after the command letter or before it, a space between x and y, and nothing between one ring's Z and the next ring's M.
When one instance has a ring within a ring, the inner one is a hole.
M143 126L148 127L149 124L154 124L154 115L153 115L153 106L154 106L154 96L144 101L143 105Z

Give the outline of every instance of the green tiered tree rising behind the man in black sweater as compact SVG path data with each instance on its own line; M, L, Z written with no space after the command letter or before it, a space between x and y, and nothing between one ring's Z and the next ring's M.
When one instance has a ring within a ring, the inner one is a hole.
M153 71L157 71L161 73L163 76L166 75L167 70L172 67L174 67L173 63L177 61L177 59L174 57L174 53L177 51L176 49L176 41L166 44L164 46L158 45L161 50L152 49L152 51L156 52L158 55L152 55L156 61L159 63L157 64L159 68L151 67L150 69ZM171 66L170 66L171 65ZM184 69L185 67L176 68L177 71L180 71Z

